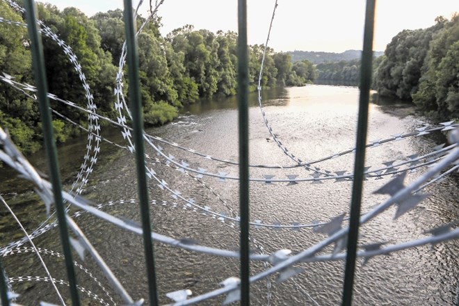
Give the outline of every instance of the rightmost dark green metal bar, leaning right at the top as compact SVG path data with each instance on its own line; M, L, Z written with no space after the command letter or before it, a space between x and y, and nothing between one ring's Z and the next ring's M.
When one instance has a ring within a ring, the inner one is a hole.
M368 108L371 86L371 61L373 59L373 28L376 0L367 0L365 13L364 42L362 65L360 68L360 102L357 122L357 140L354 163L354 182L351 199L351 217L349 219L348 248L346 272L344 274L344 291L342 305L352 304L353 282L355 273L355 252L360 225L360 204L364 180L365 144L367 143Z

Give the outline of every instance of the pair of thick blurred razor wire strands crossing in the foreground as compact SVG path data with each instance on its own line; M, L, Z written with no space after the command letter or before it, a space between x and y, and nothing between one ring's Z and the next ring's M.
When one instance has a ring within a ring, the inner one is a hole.
M455 131L457 136L454 136L454 139L456 141L459 140L459 130ZM18 152L15 150L13 145L10 143L10 140L8 140L6 134L1 133L0 134L0 139L1 139L1 144L3 145L3 150L0 151L0 159L2 159L4 162L8 163L9 166L12 166L19 172L21 172L27 179L31 179L37 184L37 186L42 189L40 192L40 196L44 197L44 200L46 202L46 197L47 193L51 193L50 189L50 184L49 182L46 182L44 179L41 177L37 177L36 175L33 175L33 170L29 169L31 167L26 160L24 160L20 155L17 155ZM457 139L456 139L457 138ZM457 146L457 143L456 143ZM369 213L365 214L361 218L361 223L367 223L369 220L372 218L378 216L378 214L381 214L385 209L388 207L396 204L397 205L397 212L395 218L398 218L398 216L401 216L401 214L404 214L405 212L409 211L413 207L415 207L421 200L424 200L424 198L427 197L427 195L414 195L412 194L413 191L415 191L417 188L422 186L422 184L428 179L433 179L437 172L440 172L443 168L449 166L451 163L456 162L459 159L459 148L456 147L453 152L450 152L448 156L445 157L440 163L437 165L433 166L430 168L424 175L421 175L415 182L410 184L409 186L403 186L403 179L405 175L401 175L390 181L389 183L385 184L382 188L378 189L378 191L375 191L375 193L383 193L383 194L389 194L392 197L384 202L383 204L378 205L375 209L370 211ZM35 172L36 173L36 172ZM45 190L43 190L45 188ZM46 192L45 192L46 191ZM49 197L49 195L48 195ZM142 234L142 229L140 226L136 225L135 223L132 223L131 221L127 222L125 220L121 220L119 218L113 217L109 214L102 213L102 211L99 211L95 209L92 206L88 205L88 202L86 200L83 200L79 196L73 196L70 195L69 193L63 192L63 198L65 200L69 201L71 204L76 205L77 207L80 207L81 209L85 209L86 211L90 212L90 214L94 214L95 216L98 216L99 218L102 218L108 222L111 222L115 225L118 225L120 227L123 227L126 230L130 230L131 232L136 232L136 234ZM280 254L275 255L277 252L273 253L272 255L269 255L268 257L265 256L260 256L260 255L251 255L251 259L257 259L257 260L268 260L275 264L273 268L269 268L266 271L259 273L255 276L251 277L251 281L255 282L258 280L263 279L264 277L267 277L268 275L272 275L273 273L277 273L283 269L285 270L283 273L284 275L282 276L281 273L281 279L288 279L296 274L298 274L301 271L298 271L298 269L293 269L291 270L291 266L293 264L297 264L300 261L304 261L304 259L307 258L307 261L320 261L320 260L326 260L324 258L319 257L319 259L316 259L314 256L319 250L322 250L325 248L325 246L329 245L330 243L336 243L335 245L335 250L331 257L335 257L338 252L344 248L344 245L342 244L342 241L344 240L344 236L346 236L346 230L348 228L341 229L341 223L343 221L344 214L341 216L337 216L333 218L330 223L327 223L325 225L322 225L319 228L318 232L324 233L324 234L329 234L328 239L324 239L320 243L317 243L314 245L312 248L309 248L308 250L305 250L303 252L300 252L298 255L294 255L293 257L287 257L286 253L289 254L289 252L281 252ZM452 230L451 228L454 225L448 225L447 227L442 227L440 229L433 230L433 236L427 237L425 239L420 239L418 241L410 242L410 243L402 243L403 246L401 245L396 245L393 246L392 248L381 248L383 244L379 244L378 247L375 250L374 245L372 246L371 249L369 249L369 253L365 254L367 257L373 257L373 253L376 252L376 255L380 254L385 254L389 252L393 252L394 250L402 250L404 248L412 248L413 246L417 245L422 245L426 243L436 243L437 241L444 241L445 239L456 239L457 236L459 236L459 229L458 230ZM163 235L155 234L152 232L152 239L168 243L170 245L174 246L179 246L182 248L187 248L188 250L196 250L199 252L208 252L209 254L212 255L219 255L219 256L227 256L227 257L238 257L239 253L238 252L231 252L228 250L217 250L215 248L208 248L208 247L203 247L201 245L193 245L190 244L189 241L177 241L176 239L170 239L167 238ZM341 242L340 242L341 241ZM288 255L287 254L287 255ZM282 255L282 256L281 256ZM360 254L360 256L363 256ZM282 259L279 261L279 257ZM313 257L313 258L311 258ZM327 259L330 259L327 257ZM233 277L234 278L234 277ZM223 289L218 289L218 292L210 292L207 293L207 295L204 295L207 298L214 297L216 293L217 295L227 293L229 291L234 291L234 289L237 287L237 282L234 280L228 281L225 283L225 287ZM210 294L210 296L209 296ZM198 299L198 300L196 300ZM188 305L188 303L195 303L197 301L201 301L202 296L196 297L196 298L191 298L186 302L186 304L177 304L177 305Z

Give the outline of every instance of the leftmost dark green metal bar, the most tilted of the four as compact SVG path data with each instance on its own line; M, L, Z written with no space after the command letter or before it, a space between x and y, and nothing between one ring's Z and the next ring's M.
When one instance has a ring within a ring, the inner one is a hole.
M33 74L35 75L38 100L40 101L40 118L42 120L43 138L45 140L45 150L47 152L49 173L51 175L51 185L53 186L54 204L56 206L56 214L59 222L61 243L65 255L65 267L67 268L67 277L70 285L70 296L72 298L72 305L77 306L80 305L80 298L77 290L77 277L73 266L69 232L67 230L67 222L65 220L61 175L59 173L56 142L54 141L51 111L49 110L49 100L47 97L48 86L45 74L45 57L43 56L42 40L40 35L38 35L35 2L33 0L25 0L24 8L26 9L27 30L29 31L29 38L31 40Z

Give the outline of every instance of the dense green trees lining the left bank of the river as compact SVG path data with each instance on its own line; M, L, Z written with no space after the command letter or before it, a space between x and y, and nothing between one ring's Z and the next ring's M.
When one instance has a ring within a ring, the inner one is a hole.
M122 10L110 10L87 17L77 8L58 10L38 3L40 19L69 45L81 64L97 105L97 113L114 116L115 79L124 42ZM0 17L24 22L24 16L0 2ZM144 22L138 17L138 26ZM141 94L146 126L170 122L184 104L200 97L236 94L236 42L232 31L212 33L186 25L166 37L159 31L160 17L147 23L138 35ZM22 26L2 22L0 26L0 73L20 83L33 84L31 54L27 31ZM86 107L85 90L79 74L56 41L42 35L49 92ZM263 45L249 46L250 90L258 86ZM291 56L268 48L261 78L263 88L304 86L315 77L309 61L291 63ZM124 86L125 90L128 86ZM38 105L6 83L0 83L0 126L8 129L13 140L26 154L41 147ZM82 126L87 115L51 101L55 111ZM54 118L56 140L61 143L78 136L81 129L62 118Z

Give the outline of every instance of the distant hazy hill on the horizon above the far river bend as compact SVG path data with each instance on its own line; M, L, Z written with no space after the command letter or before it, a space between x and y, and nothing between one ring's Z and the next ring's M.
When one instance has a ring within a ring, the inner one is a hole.
M334 52L316 52L316 51L288 51L288 54L291 55L291 61L295 63L296 61L307 60L314 64L320 63L332 63L339 61L352 61L355 59L360 59L362 54L361 50L346 50L341 53ZM382 56L383 51L374 51L376 57Z

